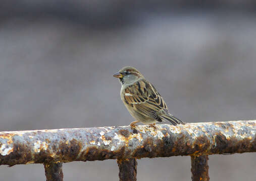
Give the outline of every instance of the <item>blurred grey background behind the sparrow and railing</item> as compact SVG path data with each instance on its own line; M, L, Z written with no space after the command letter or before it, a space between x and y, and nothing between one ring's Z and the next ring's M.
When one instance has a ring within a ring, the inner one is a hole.
M113 73L153 83L185 122L256 119L256 1L1 1L0 131L128 125ZM255 153L211 155L211 180L255 180ZM137 180L190 180L190 157L138 160ZM42 164L1 180L45 180ZM118 180L116 160L64 180Z

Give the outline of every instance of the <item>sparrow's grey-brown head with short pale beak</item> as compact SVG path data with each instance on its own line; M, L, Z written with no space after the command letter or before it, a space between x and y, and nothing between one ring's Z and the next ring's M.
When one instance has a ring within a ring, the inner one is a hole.
M136 68L133 68L131 66L123 67L113 76L119 78L121 84L132 84L135 81L144 78L143 75Z

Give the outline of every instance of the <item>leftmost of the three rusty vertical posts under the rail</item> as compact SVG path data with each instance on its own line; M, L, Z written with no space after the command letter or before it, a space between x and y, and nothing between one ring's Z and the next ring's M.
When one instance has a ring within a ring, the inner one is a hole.
M63 181L62 163L45 162L43 163L46 181Z

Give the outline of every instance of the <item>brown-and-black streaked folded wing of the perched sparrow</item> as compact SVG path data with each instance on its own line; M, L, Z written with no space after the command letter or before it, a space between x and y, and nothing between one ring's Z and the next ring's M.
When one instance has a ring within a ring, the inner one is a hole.
M158 121L162 121L158 112L164 110L168 113L168 108L156 88L148 81L142 79L129 85L124 91L124 101L142 115L149 116Z

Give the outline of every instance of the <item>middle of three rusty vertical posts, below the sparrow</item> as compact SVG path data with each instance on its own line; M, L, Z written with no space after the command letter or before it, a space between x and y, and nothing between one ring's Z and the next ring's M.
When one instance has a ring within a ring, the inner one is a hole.
M137 161L135 158L117 160L120 181L136 181Z

